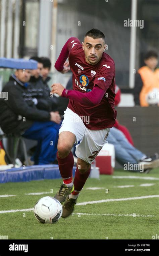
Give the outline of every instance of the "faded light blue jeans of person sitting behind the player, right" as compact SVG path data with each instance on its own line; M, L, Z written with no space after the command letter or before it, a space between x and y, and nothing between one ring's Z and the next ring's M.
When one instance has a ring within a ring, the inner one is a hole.
M115 127L110 129L107 137L108 143L111 143L115 147L115 159L121 164L132 163L136 164L139 160L146 157L140 150L134 148L125 135Z

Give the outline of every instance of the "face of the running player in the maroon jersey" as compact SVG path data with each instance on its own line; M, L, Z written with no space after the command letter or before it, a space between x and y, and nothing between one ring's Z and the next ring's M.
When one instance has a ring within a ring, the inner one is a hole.
M106 44L102 38L93 39L90 36L84 38L82 47L85 52L86 62L90 65L97 64L102 58L102 54L106 49Z

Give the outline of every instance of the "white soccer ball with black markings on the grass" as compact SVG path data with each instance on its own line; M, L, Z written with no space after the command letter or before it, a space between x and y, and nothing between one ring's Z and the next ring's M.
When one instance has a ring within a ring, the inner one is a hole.
M45 196L34 206L34 215L41 223L56 223L62 216L62 205L56 198Z

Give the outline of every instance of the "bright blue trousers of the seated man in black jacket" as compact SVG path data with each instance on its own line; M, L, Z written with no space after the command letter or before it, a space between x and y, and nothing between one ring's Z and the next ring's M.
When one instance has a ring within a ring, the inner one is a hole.
M62 122L61 122L62 123ZM36 152L33 156L35 164L49 164L56 159L58 132L60 124L54 122L34 122L22 136L38 140Z

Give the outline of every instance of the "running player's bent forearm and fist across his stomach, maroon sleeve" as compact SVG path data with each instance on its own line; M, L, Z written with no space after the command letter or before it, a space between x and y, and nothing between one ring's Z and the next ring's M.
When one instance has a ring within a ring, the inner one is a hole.
M51 87L51 93L57 93L59 96L79 101L82 104L86 105L98 105L105 94L105 91L101 89L98 85L95 85L93 90L87 93L82 93L74 90L66 90L59 83L53 84Z

